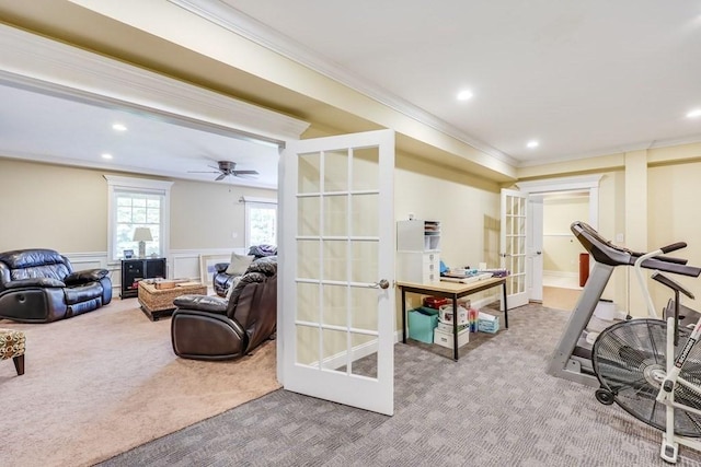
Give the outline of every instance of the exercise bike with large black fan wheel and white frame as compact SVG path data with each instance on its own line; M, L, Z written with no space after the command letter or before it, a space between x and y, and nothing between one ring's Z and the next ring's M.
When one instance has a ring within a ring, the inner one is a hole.
M697 324L685 324L679 296L693 294L659 271L652 279L674 291L675 299L664 310L666 320L657 319L655 307L641 272L644 260L678 249L675 244L643 255L634 265L651 318L618 323L605 329L594 342L591 362L600 383L595 395L599 402L616 402L640 421L663 431L660 457L675 464L679 444L701 451L701 315ZM680 318L681 325L680 325Z

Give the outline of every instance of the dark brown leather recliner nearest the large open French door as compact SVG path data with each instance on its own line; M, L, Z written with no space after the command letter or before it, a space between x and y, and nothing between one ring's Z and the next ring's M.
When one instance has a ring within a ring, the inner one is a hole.
M176 355L195 360L245 355L276 330L277 262L252 262L228 301L183 295L173 304L171 341Z

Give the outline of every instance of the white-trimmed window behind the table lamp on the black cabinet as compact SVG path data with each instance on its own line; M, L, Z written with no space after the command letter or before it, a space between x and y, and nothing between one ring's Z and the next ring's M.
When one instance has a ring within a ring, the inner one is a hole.
M137 227L147 227L151 240L145 242L147 257L168 255L170 237L169 206L172 182L150 180L105 175L108 186L110 225L108 260L125 258L125 250L139 256ZM148 236L148 235L147 235Z

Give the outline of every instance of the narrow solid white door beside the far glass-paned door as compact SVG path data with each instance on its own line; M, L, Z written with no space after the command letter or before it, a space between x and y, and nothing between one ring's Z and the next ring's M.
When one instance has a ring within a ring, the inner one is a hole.
M543 196L528 196L526 289L529 300L543 301Z

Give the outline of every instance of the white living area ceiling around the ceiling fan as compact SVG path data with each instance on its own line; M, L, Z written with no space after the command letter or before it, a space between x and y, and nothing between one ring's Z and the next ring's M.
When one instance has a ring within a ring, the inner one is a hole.
M253 143L214 128L195 128L186 120L0 86L0 151L3 155L44 162L214 180L217 161L237 170L256 170L254 179L227 177L221 183L277 186L278 148ZM127 131L115 131L122 124ZM102 154L113 156L105 160Z

